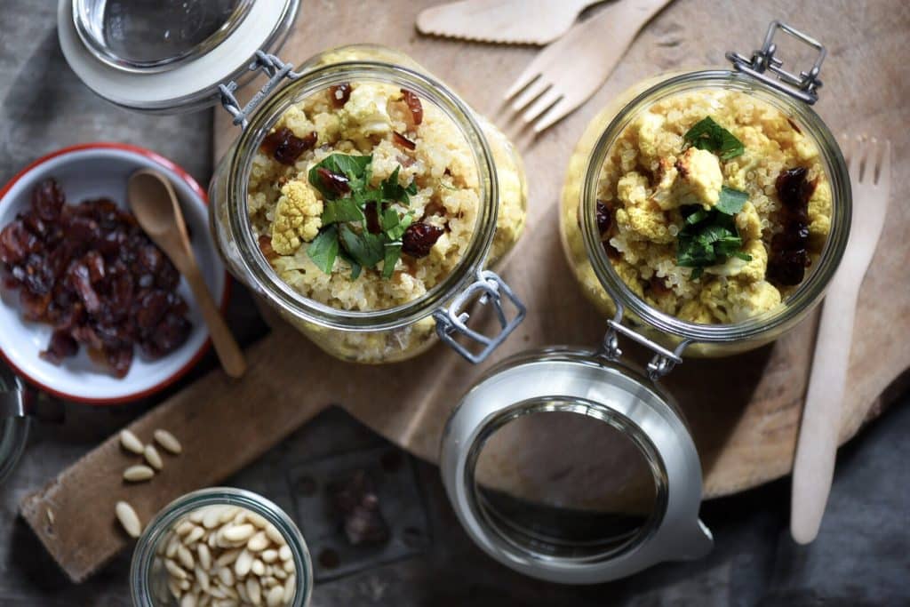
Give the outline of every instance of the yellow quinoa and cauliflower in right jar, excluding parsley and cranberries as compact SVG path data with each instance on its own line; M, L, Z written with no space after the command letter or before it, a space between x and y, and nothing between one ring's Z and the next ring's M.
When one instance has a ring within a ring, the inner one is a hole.
M705 117L743 143L741 156L723 160L687 144L683 136ZM831 217L831 188L812 140L781 110L738 91L706 89L653 103L632 118L602 167L598 199L610 224L602 240L613 268L653 308L690 322L738 322L777 309L796 286L779 284L768 272L773 238L785 224L775 182L794 167L814 185L806 213L812 264ZM748 195L733 221L749 259L731 257L693 275L677 258L684 213L693 205L710 209L722 186ZM603 303L606 293L581 241L578 205L577 197L563 200L567 250L586 292Z

